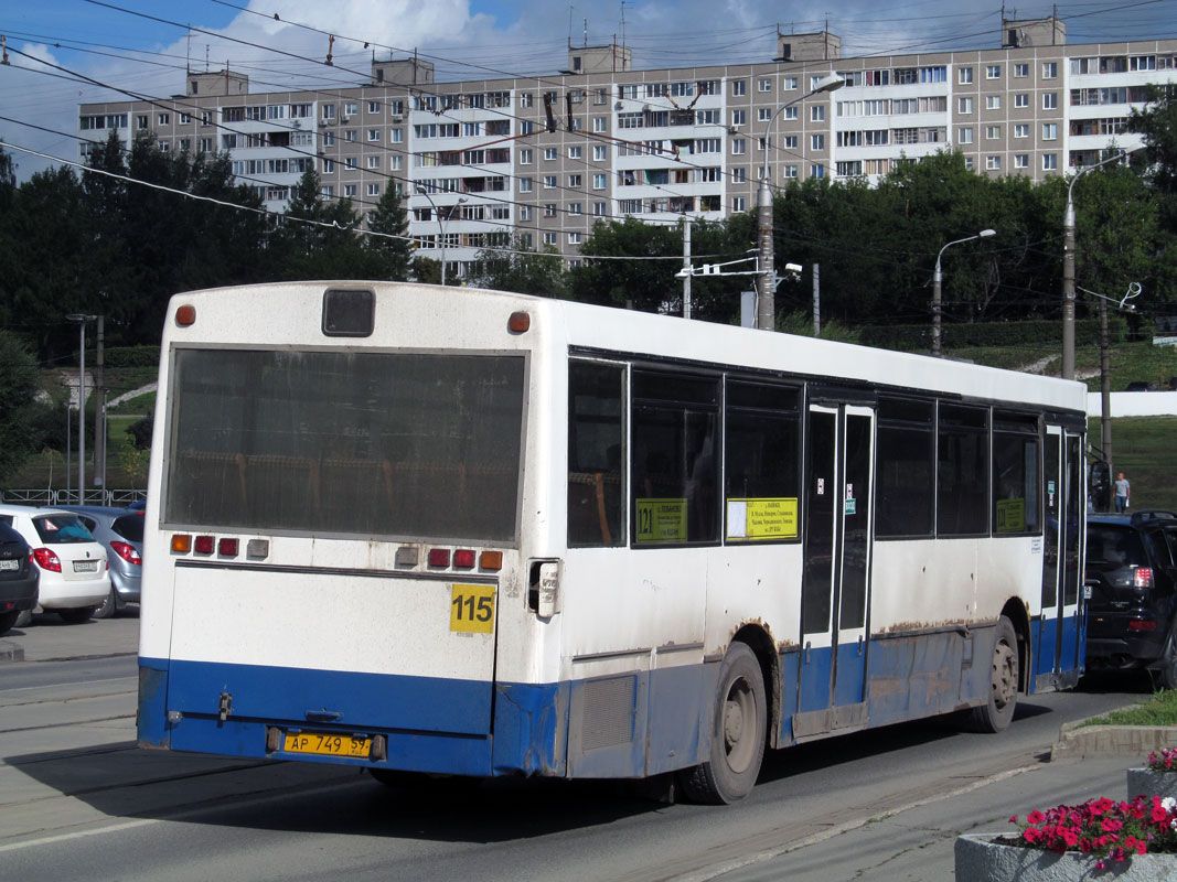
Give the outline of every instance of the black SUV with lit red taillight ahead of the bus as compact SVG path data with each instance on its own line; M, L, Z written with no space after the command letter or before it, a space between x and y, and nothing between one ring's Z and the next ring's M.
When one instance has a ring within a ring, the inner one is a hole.
M1148 668L1177 689L1177 514L1088 515L1088 668Z

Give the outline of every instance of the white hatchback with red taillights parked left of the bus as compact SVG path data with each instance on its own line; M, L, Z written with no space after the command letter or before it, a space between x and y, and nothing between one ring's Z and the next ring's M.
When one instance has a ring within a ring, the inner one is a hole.
M106 549L78 515L60 508L0 506L0 522L33 549L42 610L67 622L84 622L106 601L111 593Z

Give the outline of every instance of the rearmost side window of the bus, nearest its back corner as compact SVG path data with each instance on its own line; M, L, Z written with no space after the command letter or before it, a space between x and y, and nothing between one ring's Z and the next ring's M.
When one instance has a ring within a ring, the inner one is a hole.
M625 369L568 362L568 547L625 543Z

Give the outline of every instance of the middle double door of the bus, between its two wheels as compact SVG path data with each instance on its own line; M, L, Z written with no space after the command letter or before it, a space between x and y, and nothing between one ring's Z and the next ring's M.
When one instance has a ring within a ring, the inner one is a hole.
M872 408L810 406L798 740L866 724L873 443Z

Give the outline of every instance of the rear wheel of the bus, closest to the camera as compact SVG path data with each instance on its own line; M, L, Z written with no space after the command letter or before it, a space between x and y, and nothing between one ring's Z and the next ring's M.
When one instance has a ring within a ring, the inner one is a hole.
M732 643L719 668L710 759L684 770L686 795L716 806L747 796L760 774L767 724L760 663L746 643Z

